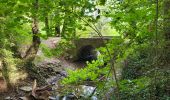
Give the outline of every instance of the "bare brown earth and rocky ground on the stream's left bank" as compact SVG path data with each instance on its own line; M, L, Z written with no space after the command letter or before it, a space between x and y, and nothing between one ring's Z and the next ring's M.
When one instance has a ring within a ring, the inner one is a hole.
M50 38L46 41L43 41L43 43L47 44L50 48L54 48L55 44L59 42L59 40L59 38ZM41 55L41 52L39 52L37 55ZM51 82L55 82L57 85L59 80L67 76L67 69L75 70L83 68L86 64L85 62L72 62L62 57L52 57L46 58L38 63L36 62L35 65L38 68L39 73L30 71L28 73L30 75L26 79L20 80L17 84L8 89L8 91L0 93L0 100L19 100L19 97L23 97L31 93L34 79L37 79L38 87L43 87L45 85L51 84ZM45 83L41 84L41 80L43 82L45 81Z

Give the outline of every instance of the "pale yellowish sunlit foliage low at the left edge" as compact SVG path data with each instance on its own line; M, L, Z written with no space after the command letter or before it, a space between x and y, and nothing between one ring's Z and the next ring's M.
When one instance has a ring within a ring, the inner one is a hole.
M0 50L1 59L3 60L2 74L8 81L8 84L16 84L19 79L24 79L26 74L20 71L21 61L13 57L13 53L6 49Z

